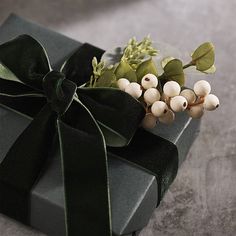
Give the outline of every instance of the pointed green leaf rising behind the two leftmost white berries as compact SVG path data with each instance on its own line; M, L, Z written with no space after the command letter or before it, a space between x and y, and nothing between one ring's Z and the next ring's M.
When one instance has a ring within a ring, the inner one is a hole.
M137 76L132 67L125 61L121 60L115 70L116 79L126 78L130 82L137 82Z

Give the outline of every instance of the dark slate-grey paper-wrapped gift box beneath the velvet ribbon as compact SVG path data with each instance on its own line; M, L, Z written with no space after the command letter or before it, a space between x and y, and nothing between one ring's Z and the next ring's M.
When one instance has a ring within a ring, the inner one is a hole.
M81 46L80 42L16 15L11 15L0 27L0 43L20 34L29 34L39 40L46 48L54 68L58 68ZM0 105L0 162L30 121L30 118ZM142 139L158 138L160 145L161 140L166 139L177 146L180 166L199 132L199 125L199 120L193 120L184 113L178 114L171 126L158 125L152 130L138 130L129 147L108 149L114 235L138 235L138 232L147 225L160 194L156 177L138 165L132 164L129 155L143 155L140 152L145 148L140 145ZM132 147L137 147L137 150ZM64 195L58 143L55 143L53 150L47 168L31 192L30 225L48 235L64 236ZM158 147L155 147L156 155L160 155L158 152ZM170 150L164 152L161 153L164 159L171 155ZM171 171L171 165L166 163L166 171ZM167 187L171 182L172 180Z

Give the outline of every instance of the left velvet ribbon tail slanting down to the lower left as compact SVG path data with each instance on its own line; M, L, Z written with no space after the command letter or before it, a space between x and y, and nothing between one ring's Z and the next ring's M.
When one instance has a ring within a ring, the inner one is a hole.
M48 157L56 114L46 105L15 141L0 164L0 212L29 223L30 190Z

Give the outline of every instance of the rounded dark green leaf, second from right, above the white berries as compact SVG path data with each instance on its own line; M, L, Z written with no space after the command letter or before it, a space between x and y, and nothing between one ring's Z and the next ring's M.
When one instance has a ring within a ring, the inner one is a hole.
M179 59L173 59L169 61L164 69L164 77L167 80L174 80L180 86L185 83L185 76L183 71L183 63Z

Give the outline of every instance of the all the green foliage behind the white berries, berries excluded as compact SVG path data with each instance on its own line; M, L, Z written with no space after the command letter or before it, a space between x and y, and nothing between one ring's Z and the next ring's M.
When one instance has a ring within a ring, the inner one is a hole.
M119 51L119 56L122 51ZM129 40L124 47L123 54L116 64L106 66L104 61L98 62L96 58L92 60L93 75L91 76L89 87L117 87L117 80L126 78L130 82L141 84L143 76L154 74L159 80L176 81L180 86L185 84L184 69L195 66L196 70L206 74L214 73L215 52L214 46L210 42L201 44L192 54L192 60L183 65L182 61L173 57L163 59L163 74L158 76L157 67L153 60L158 50L152 45L150 37L145 37L138 42L135 38ZM162 88L158 88L160 91Z

